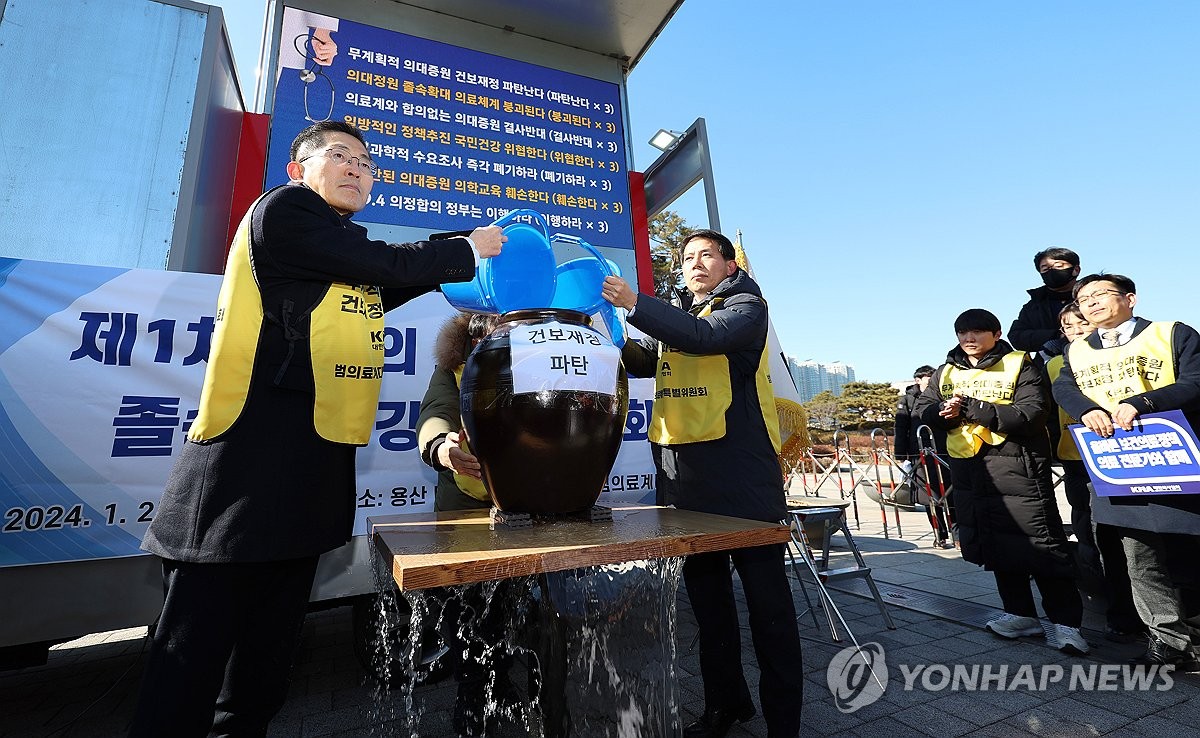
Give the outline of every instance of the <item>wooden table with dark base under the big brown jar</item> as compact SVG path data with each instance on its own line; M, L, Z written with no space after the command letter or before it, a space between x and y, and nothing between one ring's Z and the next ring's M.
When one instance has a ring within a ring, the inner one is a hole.
M589 568L790 540L787 526L656 506L614 508L606 522L490 523L486 510L370 521L401 590L539 576L536 622L529 630L546 684L538 710L548 737L625 734L622 706L642 721L638 736L667 738L680 731L673 641L678 568L671 576L658 574L670 564L624 574ZM662 578L655 586L656 576ZM637 656L605 661L610 649ZM596 654L612 670L604 679L592 676Z

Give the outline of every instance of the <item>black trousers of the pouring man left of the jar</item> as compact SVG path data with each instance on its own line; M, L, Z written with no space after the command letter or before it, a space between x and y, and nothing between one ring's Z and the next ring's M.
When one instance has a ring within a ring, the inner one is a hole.
M163 560L167 596L130 736L265 736L287 698L317 559Z

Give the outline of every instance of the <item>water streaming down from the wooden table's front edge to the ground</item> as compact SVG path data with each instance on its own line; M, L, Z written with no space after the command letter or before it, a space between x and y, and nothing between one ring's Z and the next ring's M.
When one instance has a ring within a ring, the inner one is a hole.
M682 558L400 593L372 556L372 736L679 734Z

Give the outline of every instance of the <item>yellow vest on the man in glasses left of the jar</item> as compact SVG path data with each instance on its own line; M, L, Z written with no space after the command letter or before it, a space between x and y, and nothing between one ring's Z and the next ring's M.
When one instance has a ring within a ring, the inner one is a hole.
M218 438L246 407L264 320L250 252L256 206L258 200L246 211L229 247L200 407L187 433L196 443ZM383 330L378 287L335 282L312 310L313 426L325 440L354 445L371 440L383 382Z

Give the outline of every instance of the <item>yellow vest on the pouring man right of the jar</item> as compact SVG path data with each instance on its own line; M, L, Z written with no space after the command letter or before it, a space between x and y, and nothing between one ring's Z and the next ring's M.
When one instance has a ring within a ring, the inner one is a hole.
M696 317L703 318L724 300L713 298ZM770 386L767 346L755 373L758 409L770 443L779 452L779 414ZM733 402L730 360L725 354L685 354L659 343L659 371L654 383L654 410L648 437L659 445L700 443L725 438L725 413Z

